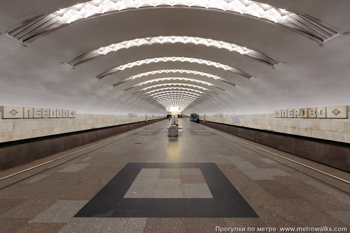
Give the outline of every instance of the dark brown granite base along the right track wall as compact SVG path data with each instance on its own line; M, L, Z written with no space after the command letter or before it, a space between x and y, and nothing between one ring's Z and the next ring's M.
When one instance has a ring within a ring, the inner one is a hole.
M350 144L209 121L202 125L350 172Z

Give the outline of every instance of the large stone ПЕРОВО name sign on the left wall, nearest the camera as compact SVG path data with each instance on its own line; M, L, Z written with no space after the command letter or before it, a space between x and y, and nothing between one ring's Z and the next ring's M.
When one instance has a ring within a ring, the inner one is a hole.
M0 106L2 118L61 118L75 117L76 110Z

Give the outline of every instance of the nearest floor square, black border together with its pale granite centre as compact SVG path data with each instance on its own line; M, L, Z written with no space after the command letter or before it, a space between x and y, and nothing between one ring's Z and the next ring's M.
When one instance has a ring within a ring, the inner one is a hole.
M259 216L215 163L128 163L74 217Z

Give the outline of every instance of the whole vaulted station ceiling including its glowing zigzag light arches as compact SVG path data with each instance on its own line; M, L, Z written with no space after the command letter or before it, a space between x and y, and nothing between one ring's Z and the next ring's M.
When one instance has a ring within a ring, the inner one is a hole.
M350 2L5 0L0 104L249 114L349 105Z

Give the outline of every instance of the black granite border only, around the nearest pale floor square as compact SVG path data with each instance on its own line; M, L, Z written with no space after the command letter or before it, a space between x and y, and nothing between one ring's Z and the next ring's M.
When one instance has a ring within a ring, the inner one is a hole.
M123 198L142 168L200 168L213 198ZM128 163L74 217L258 218L215 163Z

